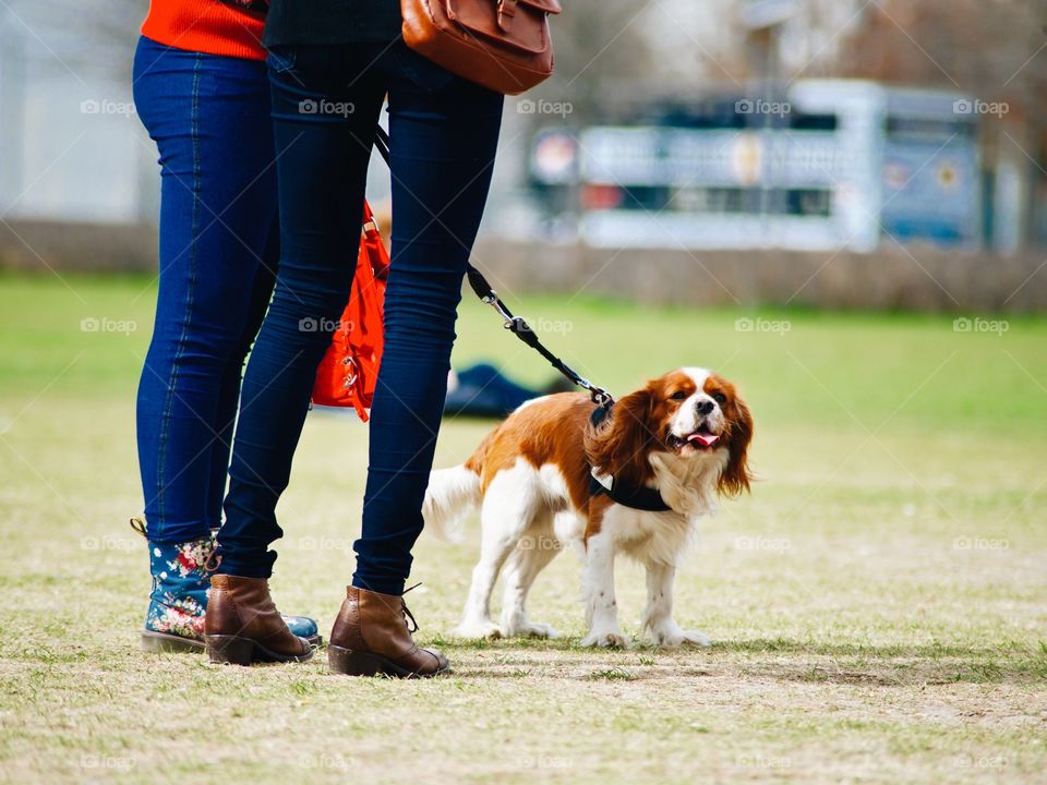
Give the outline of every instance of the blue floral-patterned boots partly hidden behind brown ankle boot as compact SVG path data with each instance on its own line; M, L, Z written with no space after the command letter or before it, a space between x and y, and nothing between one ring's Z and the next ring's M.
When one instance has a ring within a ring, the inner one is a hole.
M131 519L131 528L145 536L145 522ZM147 652L203 652L204 619L210 594L210 573L217 559L216 530L198 540L170 544L148 541L153 592L142 631L142 650ZM315 619L284 616L294 635L318 645L322 639Z

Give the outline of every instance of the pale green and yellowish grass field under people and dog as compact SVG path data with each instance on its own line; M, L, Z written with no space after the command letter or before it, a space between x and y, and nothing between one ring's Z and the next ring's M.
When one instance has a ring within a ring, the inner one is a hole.
M0 278L0 780L1047 781L1047 321L525 298L616 392L700 364L746 395L760 482L705 522L678 582L678 619L714 644L579 648L571 556L531 602L565 640L456 641L478 543L423 534L411 607L455 673L393 683L328 675L325 656L137 650L147 557L125 520L154 297L146 279ZM458 331L458 363L550 376L474 302ZM488 427L445 423L437 464ZM311 415L280 504L275 596L325 635L365 436ZM641 572L618 588L636 633Z

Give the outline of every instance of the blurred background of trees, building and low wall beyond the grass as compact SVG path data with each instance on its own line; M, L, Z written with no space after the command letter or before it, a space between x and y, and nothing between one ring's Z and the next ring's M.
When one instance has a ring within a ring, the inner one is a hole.
M506 104L477 249L504 285L1047 305L1045 0L565 4L556 76ZM146 5L0 2L0 267L155 268Z

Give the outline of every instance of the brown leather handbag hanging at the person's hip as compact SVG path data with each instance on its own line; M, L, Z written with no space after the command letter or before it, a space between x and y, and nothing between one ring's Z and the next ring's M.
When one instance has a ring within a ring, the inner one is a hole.
M508 95L552 75L547 15L562 10L558 0L400 0L407 46Z

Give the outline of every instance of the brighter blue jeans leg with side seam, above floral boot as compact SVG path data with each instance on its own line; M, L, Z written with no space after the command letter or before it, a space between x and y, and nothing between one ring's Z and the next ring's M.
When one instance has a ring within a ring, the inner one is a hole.
M159 293L139 385L147 534L219 524L243 361L279 256L265 65L141 38L134 101L160 164Z

